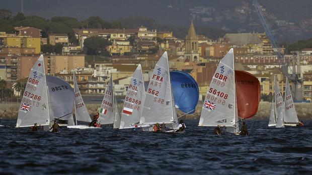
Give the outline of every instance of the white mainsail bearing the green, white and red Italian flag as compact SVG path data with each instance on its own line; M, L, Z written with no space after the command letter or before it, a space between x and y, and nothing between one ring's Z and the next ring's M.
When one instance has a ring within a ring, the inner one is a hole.
M107 85L99 113L100 117L98 121L101 124L114 123L114 89L112 76L109 79L109 83Z

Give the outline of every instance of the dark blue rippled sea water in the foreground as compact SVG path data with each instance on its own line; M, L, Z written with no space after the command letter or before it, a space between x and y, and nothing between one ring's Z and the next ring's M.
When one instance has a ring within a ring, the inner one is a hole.
M214 135L185 121L184 134L0 127L2 174L312 174L312 122L268 128L247 121L250 136ZM1 173L0 173L1 174Z

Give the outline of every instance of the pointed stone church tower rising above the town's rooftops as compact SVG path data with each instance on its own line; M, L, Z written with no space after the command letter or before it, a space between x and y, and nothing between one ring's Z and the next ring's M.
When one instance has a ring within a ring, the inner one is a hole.
M194 60L197 60L198 58L199 58L198 39L195 33L195 28L194 28L193 20L192 20L189 32L187 36L185 37L184 59L189 59L190 61L194 61Z

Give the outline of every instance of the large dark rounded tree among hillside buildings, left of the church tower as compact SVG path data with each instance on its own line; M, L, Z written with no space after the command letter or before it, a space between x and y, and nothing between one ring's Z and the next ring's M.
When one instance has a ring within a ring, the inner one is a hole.
M87 55L105 55L106 46L111 44L110 41L101 37L89 37L84 42L84 46L87 49Z

